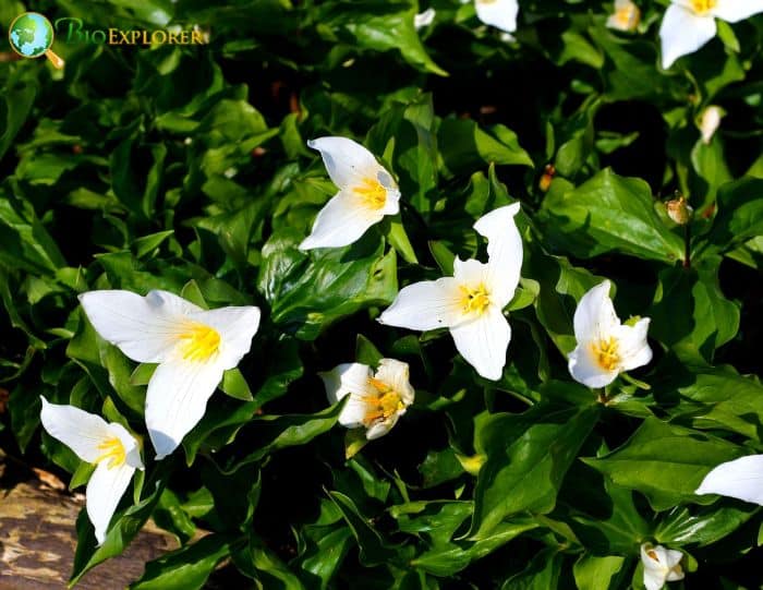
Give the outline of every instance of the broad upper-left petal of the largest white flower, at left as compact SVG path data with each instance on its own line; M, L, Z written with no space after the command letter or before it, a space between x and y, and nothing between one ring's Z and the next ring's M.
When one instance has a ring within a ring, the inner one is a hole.
M89 291L80 296L85 314L101 338L137 362L161 362L171 356L184 313L201 311L167 291L146 297L130 291Z

